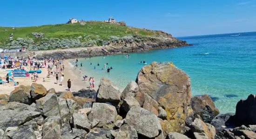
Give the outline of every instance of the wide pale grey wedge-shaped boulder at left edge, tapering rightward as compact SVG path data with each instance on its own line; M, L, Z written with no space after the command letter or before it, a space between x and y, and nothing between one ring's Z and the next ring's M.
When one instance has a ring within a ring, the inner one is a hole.
M19 102L9 102L0 107L0 128L19 126L41 115L36 108Z

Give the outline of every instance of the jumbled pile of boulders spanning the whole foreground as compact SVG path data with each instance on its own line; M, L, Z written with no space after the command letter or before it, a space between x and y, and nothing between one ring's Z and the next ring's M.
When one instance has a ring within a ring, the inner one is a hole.
M102 78L97 91L33 83L0 100L0 139L256 139L256 125L227 128L230 115L216 116L208 95L191 99L189 76L173 63L143 67L123 92ZM254 104L254 95L239 102L236 120ZM249 117L239 124L254 124Z

